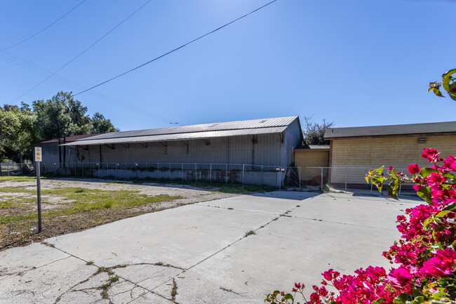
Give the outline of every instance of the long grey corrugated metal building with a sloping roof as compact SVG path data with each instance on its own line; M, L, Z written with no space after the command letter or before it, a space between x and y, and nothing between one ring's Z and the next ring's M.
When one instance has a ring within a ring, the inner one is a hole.
M65 168L75 175L281 185L285 173L276 171L301 143L299 117L279 117L105 133L62 147L72 150Z

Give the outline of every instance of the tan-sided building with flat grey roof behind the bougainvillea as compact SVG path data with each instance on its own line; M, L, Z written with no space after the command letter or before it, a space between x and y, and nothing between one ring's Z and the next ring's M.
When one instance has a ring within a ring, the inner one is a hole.
M391 165L406 171L408 164L429 164L420 157L424 148L456 154L456 121L327 128L325 139L330 140L329 183L366 185L370 168Z

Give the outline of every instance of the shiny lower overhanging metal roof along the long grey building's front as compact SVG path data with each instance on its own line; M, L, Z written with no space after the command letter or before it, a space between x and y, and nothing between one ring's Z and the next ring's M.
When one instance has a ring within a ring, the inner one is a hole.
M112 145L116 143L151 143L159 141L171 141L171 140L195 140L201 138L215 138L224 136L243 136L243 135L257 135L257 134L269 134L269 133L281 133L287 127L277 126L269 128L250 128L250 129L239 129L239 130L227 130L227 131L201 131L194 133L177 133L177 134L161 134L151 136L130 136L122 138L90 138L88 140L77 140L73 143L67 143L65 145Z

